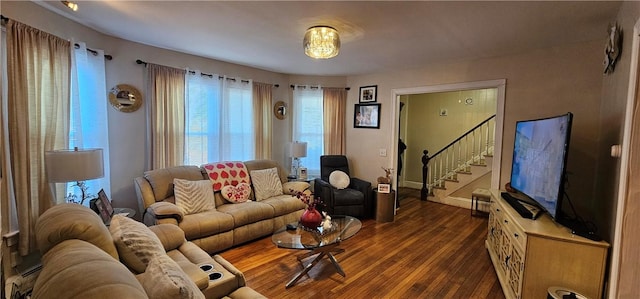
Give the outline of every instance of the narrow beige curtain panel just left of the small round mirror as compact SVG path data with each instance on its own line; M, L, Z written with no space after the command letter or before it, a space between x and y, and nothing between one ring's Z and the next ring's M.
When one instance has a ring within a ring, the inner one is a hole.
M255 116L256 159L271 159L272 85L253 82L253 115Z

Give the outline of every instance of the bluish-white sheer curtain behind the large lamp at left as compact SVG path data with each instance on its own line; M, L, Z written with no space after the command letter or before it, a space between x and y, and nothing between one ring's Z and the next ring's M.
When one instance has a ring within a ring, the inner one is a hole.
M107 87L105 61L102 50L87 51L85 43L76 42L73 50L71 71L71 121L69 148L101 148L104 177L86 181L88 192L96 195L104 189L111 196L109 167L109 126L107 120ZM77 187L67 185L67 192L78 193ZM85 205L89 202L85 201Z

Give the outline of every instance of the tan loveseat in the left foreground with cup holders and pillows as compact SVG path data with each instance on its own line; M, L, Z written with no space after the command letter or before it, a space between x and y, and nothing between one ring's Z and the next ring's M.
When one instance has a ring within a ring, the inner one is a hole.
M36 241L43 268L33 298L265 298L175 225L146 227L118 215L107 228L89 208L61 204L38 219ZM213 272L218 279L209 279Z

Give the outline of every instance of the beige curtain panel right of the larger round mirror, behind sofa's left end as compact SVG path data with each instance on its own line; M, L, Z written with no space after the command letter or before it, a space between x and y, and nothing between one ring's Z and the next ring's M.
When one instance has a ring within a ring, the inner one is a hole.
M160 169L184 161L186 70L147 63L148 166Z

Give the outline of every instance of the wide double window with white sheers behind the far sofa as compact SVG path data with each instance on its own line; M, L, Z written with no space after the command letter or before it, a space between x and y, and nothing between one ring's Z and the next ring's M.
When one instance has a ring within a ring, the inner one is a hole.
M186 165L255 157L252 82L187 73Z

